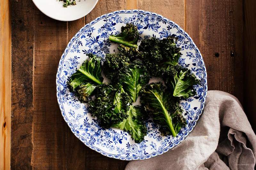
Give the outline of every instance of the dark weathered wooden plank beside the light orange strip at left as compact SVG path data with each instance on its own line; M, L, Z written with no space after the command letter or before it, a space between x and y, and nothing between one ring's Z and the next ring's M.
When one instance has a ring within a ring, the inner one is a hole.
M34 4L11 2L12 16L12 169L32 169Z

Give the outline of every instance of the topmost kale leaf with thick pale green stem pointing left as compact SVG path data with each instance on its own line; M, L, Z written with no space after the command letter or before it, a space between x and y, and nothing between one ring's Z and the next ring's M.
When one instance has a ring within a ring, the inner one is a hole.
M118 35L110 35L109 40L123 44L130 47L138 47L139 32L137 26L133 24L126 24L121 27L121 33Z

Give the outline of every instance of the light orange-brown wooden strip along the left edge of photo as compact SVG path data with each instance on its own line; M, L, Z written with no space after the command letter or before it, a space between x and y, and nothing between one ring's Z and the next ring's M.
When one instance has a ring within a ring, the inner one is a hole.
M10 169L11 160L11 18L10 4L0 0L0 169Z

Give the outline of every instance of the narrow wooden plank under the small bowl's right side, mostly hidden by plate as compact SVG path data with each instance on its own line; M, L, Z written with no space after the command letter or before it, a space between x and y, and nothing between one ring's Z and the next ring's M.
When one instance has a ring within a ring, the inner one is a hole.
M85 25L85 17L76 21L68 22L68 41L76 32ZM84 54L81 54L84 55ZM84 145L73 132L67 128L67 169L85 169L86 150L90 149Z

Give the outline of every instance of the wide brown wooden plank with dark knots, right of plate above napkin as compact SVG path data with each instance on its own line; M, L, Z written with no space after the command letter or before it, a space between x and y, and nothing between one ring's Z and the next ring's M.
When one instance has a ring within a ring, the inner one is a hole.
M203 55L208 90L222 90L242 101L241 2L186 1L186 31Z

